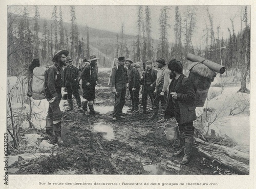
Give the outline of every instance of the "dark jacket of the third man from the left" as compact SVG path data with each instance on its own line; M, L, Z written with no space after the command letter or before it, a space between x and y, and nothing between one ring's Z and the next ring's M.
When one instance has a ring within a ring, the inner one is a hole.
M91 85L96 85L98 82L98 66L97 65L86 65L84 67L84 72L81 75L82 79L82 88L86 87L86 84L89 82Z

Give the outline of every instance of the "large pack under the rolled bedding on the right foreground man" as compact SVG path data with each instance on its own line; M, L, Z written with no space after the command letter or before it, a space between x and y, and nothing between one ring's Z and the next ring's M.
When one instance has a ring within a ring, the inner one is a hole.
M204 106L211 82L214 81L215 77L216 72L201 63L194 63L189 69L188 78L193 83L196 92L196 107ZM185 79L183 80L182 85L185 83Z

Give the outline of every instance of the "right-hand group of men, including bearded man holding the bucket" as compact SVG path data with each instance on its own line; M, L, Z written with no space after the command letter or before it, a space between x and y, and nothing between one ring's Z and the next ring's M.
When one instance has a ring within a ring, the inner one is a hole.
M124 119L122 109L126 88L129 88L132 100L131 112L138 112L139 91L142 85L143 113L148 113L147 96L149 95L154 110L150 119L157 118L161 102L164 119L175 117L177 120L180 131L180 150L174 155L184 154L181 164L185 165L190 160L194 143L193 121L197 118L194 103L195 88L189 78L182 73L183 66L180 61L173 59L167 67L163 58L159 58L156 62L158 70L153 68L152 61L146 61L145 70L139 77L139 72L133 66L131 59L118 58L118 64L114 66L111 76L113 92L116 94L113 120Z

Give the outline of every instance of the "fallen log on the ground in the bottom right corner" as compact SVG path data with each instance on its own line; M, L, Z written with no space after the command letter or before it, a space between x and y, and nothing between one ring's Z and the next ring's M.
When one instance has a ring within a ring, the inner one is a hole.
M210 144L198 138L196 138L195 148L238 174L249 174L249 154L247 153L226 146Z

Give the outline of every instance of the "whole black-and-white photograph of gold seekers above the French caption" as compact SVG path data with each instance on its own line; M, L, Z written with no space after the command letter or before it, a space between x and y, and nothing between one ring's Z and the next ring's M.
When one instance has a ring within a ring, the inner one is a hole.
M6 9L8 174L250 175L251 6Z

